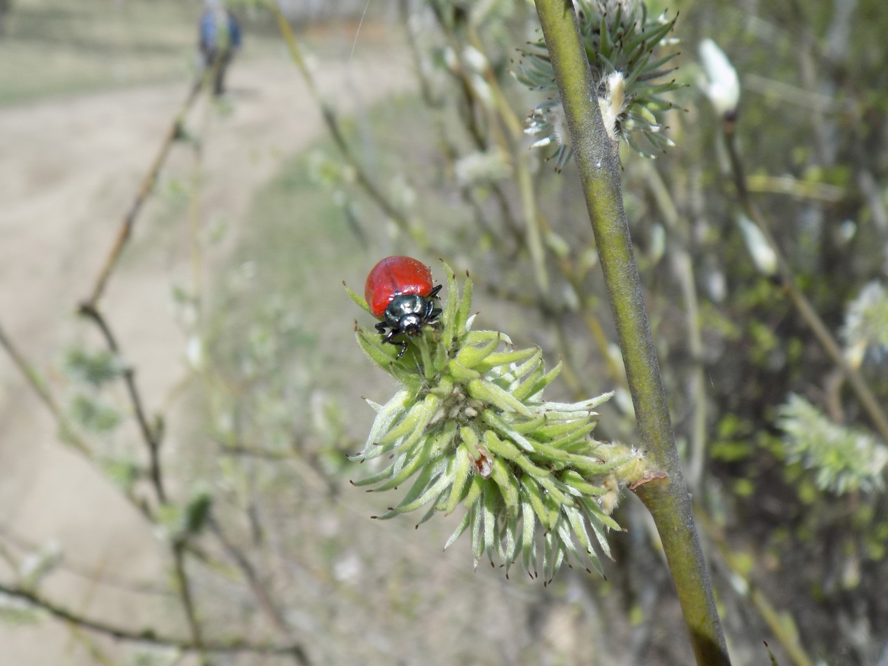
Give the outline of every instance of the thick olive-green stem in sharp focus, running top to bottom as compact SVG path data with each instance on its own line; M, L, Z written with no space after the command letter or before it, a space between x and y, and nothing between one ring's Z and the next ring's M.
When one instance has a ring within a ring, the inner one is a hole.
M570 0L536 0L598 245L638 432L655 473L637 493L654 517L698 664L730 664L694 526L620 188L617 147L605 130Z

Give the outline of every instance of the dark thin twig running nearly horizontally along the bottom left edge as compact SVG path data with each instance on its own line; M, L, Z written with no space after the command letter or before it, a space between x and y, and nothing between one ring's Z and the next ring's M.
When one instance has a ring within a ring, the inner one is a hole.
M135 643L144 643L152 646L173 647L178 650L182 650L183 652L205 651L223 653L251 652L256 654L299 654L301 655L300 662L303 662L302 660L306 659L305 650L298 643L291 644L289 646L274 646L250 643L242 639L234 639L225 642L204 641L202 645L198 646L192 640L183 640L181 638L163 636L162 634L156 633L155 630L152 629L133 631L129 629L124 629L123 627L115 626L113 624L108 624L107 622L99 622L97 620L91 620L89 618L82 617L81 615L72 613L65 607L59 606L49 599L44 599L43 597L40 597L35 591L32 590L25 590L20 587L14 587L6 585L4 583L0 583L0 593L3 593L10 597L14 597L16 599L27 601L29 604L38 608L42 608L47 613L58 617L60 620L74 623L81 629L95 631L97 633L120 640L129 640Z

